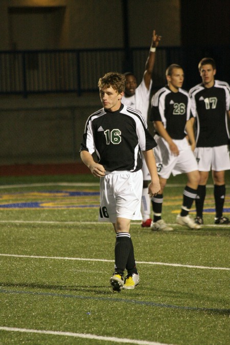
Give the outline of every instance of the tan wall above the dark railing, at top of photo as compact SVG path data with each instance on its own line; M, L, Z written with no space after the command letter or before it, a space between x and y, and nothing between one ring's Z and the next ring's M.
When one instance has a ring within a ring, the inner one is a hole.
M123 48L124 32L146 47L154 28L164 45L180 45L179 0L0 2L0 50Z

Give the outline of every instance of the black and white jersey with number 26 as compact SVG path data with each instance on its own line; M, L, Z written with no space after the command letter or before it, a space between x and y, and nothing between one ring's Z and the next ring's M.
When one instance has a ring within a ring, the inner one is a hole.
M172 139L186 136L186 122L191 116L191 102L186 90L179 88L174 93L168 86L162 87L152 97L151 121L162 121Z

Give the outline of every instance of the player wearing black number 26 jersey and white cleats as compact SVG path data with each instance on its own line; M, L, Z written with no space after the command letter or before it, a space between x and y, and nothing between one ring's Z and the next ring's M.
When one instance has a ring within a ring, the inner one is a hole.
M187 185L183 190L183 204L176 222L192 229L199 229L189 211L197 195L199 172L193 154L195 137L191 117L191 102L183 90L183 70L177 64L166 70L167 86L159 89L152 98L150 120L153 121L156 135L154 148L157 171L160 176L160 193L152 197L153 222L155 231L171 231L172 227L162 219L163 191L171 173L173 176L187 174ZM188 139L189 141L188 141Z

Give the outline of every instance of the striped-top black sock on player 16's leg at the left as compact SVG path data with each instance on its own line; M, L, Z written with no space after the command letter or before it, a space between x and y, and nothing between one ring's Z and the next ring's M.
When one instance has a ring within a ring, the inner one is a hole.
M123 274L130 251L130 234L117 233L115 243L115 271Z

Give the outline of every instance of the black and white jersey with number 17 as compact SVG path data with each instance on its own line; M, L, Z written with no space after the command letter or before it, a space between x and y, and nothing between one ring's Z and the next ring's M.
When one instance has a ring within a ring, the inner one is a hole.
M227 110L230 110L230 88L226 82L215 80L207 88L198 84L190 89L192 114L197 118L196 146L227 145L229 132Z

